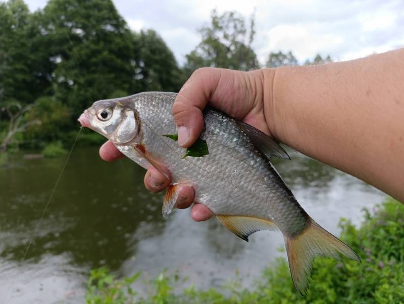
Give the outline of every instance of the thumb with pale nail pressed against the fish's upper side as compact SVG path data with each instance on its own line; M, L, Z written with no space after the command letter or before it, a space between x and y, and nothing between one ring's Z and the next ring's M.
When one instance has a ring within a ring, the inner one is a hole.
M173 105L173 117L178 128L178 144L189 147L204 128L202 111L220 80L220 69L196 70L179 91Z

